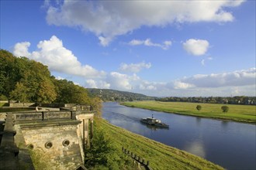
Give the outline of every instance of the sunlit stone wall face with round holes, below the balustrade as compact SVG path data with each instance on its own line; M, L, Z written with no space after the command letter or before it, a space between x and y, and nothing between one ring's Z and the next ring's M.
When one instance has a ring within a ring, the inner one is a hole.
M57 169L74 169L81 165L77 135L78 124L22 128L26 146L33 148L41 162Z

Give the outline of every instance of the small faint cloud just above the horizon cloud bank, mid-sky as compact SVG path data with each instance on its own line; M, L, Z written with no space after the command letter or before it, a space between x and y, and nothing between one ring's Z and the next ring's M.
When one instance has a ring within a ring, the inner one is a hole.
M132 72L132 73L137 73L140 72L142 69L149 69L151 67L151 63L121 63L119 70L122 70L124 72Z

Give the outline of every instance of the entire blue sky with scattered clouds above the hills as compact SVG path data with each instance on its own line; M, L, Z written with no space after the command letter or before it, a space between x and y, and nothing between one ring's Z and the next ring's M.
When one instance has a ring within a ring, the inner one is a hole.
M255 96L255 1L1 1L1 49L83 87Z

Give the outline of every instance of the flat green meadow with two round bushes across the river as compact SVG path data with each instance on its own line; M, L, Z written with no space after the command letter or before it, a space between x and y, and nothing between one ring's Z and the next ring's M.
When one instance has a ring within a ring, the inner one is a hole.
M239 121L256 124L256 106L227 104L229 111L223 113L220 107L224 104L197 104L185 102L133 101L125 102L128 107L140 107L149 110L185 114L196 117L208 117L222 120ZM196 110L201 105L202 110Z

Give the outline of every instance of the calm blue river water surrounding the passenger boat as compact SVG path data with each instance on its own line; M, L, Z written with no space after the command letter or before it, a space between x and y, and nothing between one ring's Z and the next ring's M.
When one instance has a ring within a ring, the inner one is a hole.
M170 128L153 128L140 123L141 117L151 117L152 114ZM125 107L115 102L103 104L102 117L111 124L199 155L223 168L256 169L254 124L167 114Z

